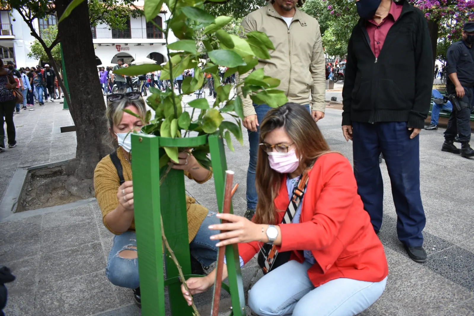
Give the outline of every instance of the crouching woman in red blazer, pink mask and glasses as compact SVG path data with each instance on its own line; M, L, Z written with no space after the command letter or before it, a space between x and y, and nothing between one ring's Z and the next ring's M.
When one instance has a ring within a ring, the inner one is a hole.
M252 221L218 214L227 224L212 225L217 246L237 244L241 265L264 243L291 251L289 262L265 274L248 293L260 316L351 316L370 307L383 293L388 266L383 246L357 194L349 161L330 152L308 111L287 103L272 109L260 125ZM309 180L291 224L281 224L301 175ZM224 278L227 267L224 267ZM215 271L186 281L192 294L209 289Z

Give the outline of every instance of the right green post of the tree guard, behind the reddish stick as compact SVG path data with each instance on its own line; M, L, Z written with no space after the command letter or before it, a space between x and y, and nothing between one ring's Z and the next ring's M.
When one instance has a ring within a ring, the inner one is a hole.
M216 187L217 205L219 208L219 213L222 213L222 209L224 207L224 188L226 180L225 174L227 170L224 142L221 137L211 135L209 136L209 147L212 171L214 172L214 185ZM232 202L230 204L230 214L234 214ZM236 244L228 245L226 247L226 261L233 315L245 316L244 284L242 282L242 275L240 273L240 261Z

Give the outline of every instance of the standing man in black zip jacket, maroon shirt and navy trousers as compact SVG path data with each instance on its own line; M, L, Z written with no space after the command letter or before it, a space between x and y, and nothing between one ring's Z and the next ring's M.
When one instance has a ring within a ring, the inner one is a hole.
M358 193L378 233L383 214L378 158L383 153L398 238L412 260L424 262L418 134L433 84L428 23L406 0L361 0L356 5L361 19L347 47L342 130L353 141Z

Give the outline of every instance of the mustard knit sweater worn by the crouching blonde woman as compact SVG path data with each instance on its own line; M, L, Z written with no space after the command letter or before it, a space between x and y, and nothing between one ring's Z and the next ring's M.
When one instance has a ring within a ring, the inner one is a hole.
M132 168L130 164L125 160L121 147L118 147L117 156L122 164L123 168L123 177L125 181L132 180ZM191 174L185 172L185 175L194 180ZM209 172L209 175L203 181L197 181L198 183L203 183L208 181L212 177L212 172ZM107 225L105 217L107 214L112 212L118 206L117 192L118 187L120 186L120 180L118 179L117 169L112 163L110 156L107 155L97 164L94 171L94 190L95 197L99 203L100 211L102 212L102 221L104 226L109 229L115 235L120 233L114 232ZM188 219L188 239L191 242L208 214L208 209L204 208L202 205L197 204L196 200L186 196L186 207L187 207L187 219ZM166 223L164 223L166 230ZM135 219L132 221L130 231L135 231Z

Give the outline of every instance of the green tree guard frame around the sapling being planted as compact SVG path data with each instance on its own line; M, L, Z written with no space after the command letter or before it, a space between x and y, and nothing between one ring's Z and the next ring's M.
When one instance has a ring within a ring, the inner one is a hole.
M137 229L138 272L142 299L142 316L164 316L164 286L168 286L173 316L191 316L192 308L181 294L181 281L173 260L166 256L166 277L163 264L164 244L161 238L163 216L166 239L182 266L186 278L191 276L188 224L184 190L184 174L172 169L160 187L160 146L197 147L209 142L219 213L224 204L224 183L227 162L222 138L202 135L187 138L164 138L133 134L133 192ZM232 211L232 205L230 208ZM229 286L222 284L232 300L232 314L244 316L245 300L237 245L226 247Z

